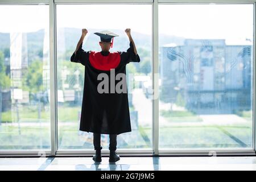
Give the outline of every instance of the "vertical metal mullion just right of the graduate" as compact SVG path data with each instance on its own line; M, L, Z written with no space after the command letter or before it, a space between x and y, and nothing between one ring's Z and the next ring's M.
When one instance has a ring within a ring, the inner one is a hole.
M159 154L158 52L158 1L154 1L154 3L152 3L152 89L154 90L154 96L152 97L152 147L154 155Z

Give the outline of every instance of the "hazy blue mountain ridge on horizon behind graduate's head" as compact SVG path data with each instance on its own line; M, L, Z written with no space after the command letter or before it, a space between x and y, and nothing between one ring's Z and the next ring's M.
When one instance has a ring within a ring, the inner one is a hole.
M100 29L90 29L89 34L86 36L83 48L87 51L94 50L100 51L100 46L98 42L100 42L100 37L93 34L93 32L101 31ZM129 48L129 39L126 36L125 30L117 30L117 29L109 29L109 31L115 32L119 36L114 38L114 46L113 51L126 51ZM141 47L151 51L151 40L152 36L148 34L141 34L139 32L134 32L131 30L131 35L133 36L134 42L137 47ZM80 28L58 28L57 29L57 50L60 51L63 49L64 51L72 51L75 50L77 42L79 41L81 36ZM43 39L44 39L44 29L41 29L36 32L28 32L27 33L27 46L28 46L28 55L42 54L43 49ZM167 44L167 43L176 43L182 44L184 38L170 36L165 34L159 35L159 45ZM62 47L62 48L61 48ZM10 48L10 34L9 33L1 33L0 32L0 50L4 48ZM118 49L116 49L118 48ZM41 52L41 53L40 53Z

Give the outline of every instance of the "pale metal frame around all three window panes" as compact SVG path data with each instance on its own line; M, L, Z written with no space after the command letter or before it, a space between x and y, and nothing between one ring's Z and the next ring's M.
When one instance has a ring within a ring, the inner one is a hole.
M155 96L158 96L159 93L159 35L158 35L158 5L170 5L170 4L209 4L209 3L253 3L253 14L254 14L254 27L253 27L253 150L204 150L204 149L195 149L195 150L159 150L159 98L155 97L152 100L152 150L118 150L118 154L121 155L225 155L225 156L234 156L234 155L255 155L255 9L256 1L255 0L0 0L1 5L38 5L43 3L49 6L49 61L50 61L50 107L51 107L51 150L46 151L43 155L46 156L83 156L83 155L93 155L93 150L58 150L57 146L57 44L56 44L56 5L65 5L65 4L150 4L152 5L152 85L154 89ZM108 154L106 151L102 151L102 154ZM0 151L0 156L42 156L42 151Z

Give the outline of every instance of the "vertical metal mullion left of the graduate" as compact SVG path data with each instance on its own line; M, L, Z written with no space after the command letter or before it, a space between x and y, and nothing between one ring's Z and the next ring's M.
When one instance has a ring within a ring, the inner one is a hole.
M51 107L51 155L57 151L57 71L56 71L56 11L54 0L49 1L49 71Z

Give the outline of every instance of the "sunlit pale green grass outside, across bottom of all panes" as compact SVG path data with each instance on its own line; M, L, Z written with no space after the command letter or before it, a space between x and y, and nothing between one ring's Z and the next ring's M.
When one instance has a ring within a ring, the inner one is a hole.
M130 111L134 108L130 107ZM81 138L77 135L78 129L78 113L81 107L58 107L59 122L73 122L73 125L59 125L59 142L65 147L81 147ZM15 112L13 117L15 117ZM24 106L20 109L21 122L39 122L37 107ZM189 111L164 111L160 110L160 114L167 118L170 122L186 122L196 121L200 119L195 113ZM49 122L49 111L42 110L42 122ZM248 118L251 121L251 111L241 111L240 117ZM11 111L2 113L2 123L11 122ZM241 147L232 137L241 140L248 147L252 142L251 122L243 125L235 126L161 126L159 129L160 148L204 148L204 147ZM151 127L139 126L139 135L143 140L134 141L133 147L141 146L150 148L152 143ZM145 145L146 143L146 145ZM49 148L51 144L49 126L0 126L0 150L30 150L38 148ZM123 146L126 147L127 146ZM129 147L129 144L128 144Z

